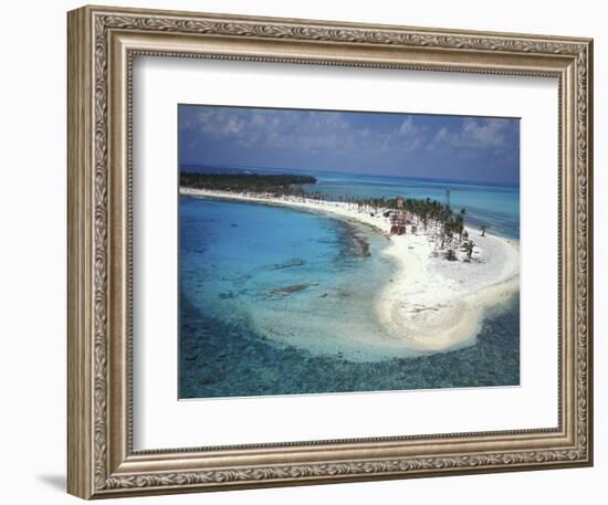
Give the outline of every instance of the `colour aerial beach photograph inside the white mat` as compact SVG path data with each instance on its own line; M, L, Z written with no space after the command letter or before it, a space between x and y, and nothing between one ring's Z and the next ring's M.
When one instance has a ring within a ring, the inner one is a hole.
M178 106L179 398L520 383L520 119Z

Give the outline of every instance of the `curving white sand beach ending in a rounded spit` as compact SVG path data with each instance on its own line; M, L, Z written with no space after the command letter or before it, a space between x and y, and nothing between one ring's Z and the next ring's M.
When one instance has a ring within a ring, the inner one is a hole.
M384 343L387 348L437 353L471 345L484 312L509 299L520 286L518 242L491 233L481 236L467 228L475 243L472 261L463 261L461 251L457 251L458 261L448 261L427 234L390 235L387 218L360 211L353 203L190 188L180 188L180 193L323 212L385 233L390 239L385 253L398 264L377 301L378 319L392 337Z

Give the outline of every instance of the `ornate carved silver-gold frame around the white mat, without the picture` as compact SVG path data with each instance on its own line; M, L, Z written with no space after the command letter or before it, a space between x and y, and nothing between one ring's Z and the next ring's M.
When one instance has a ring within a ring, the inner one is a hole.
M69 13L69 492L83 498L593 464L589 39L84 7ZM132 64L137 54L559 81L559 425L135 452Z

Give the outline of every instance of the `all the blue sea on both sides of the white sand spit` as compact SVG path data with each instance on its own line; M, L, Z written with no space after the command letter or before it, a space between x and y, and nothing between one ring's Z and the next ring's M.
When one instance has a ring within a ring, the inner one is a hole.
M467 209L467 223L518 239L518 189L310 172L329 198L396 197ZM387 239L326 215L180 196L180 398L381 391L520 382L515 296L473 346L386 355L374 299L395 265Z

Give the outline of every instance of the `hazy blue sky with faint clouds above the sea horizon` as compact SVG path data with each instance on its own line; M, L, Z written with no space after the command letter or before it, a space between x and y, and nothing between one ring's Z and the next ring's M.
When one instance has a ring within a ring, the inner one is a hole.
M181 165L520 183L520 120L179 106Z

